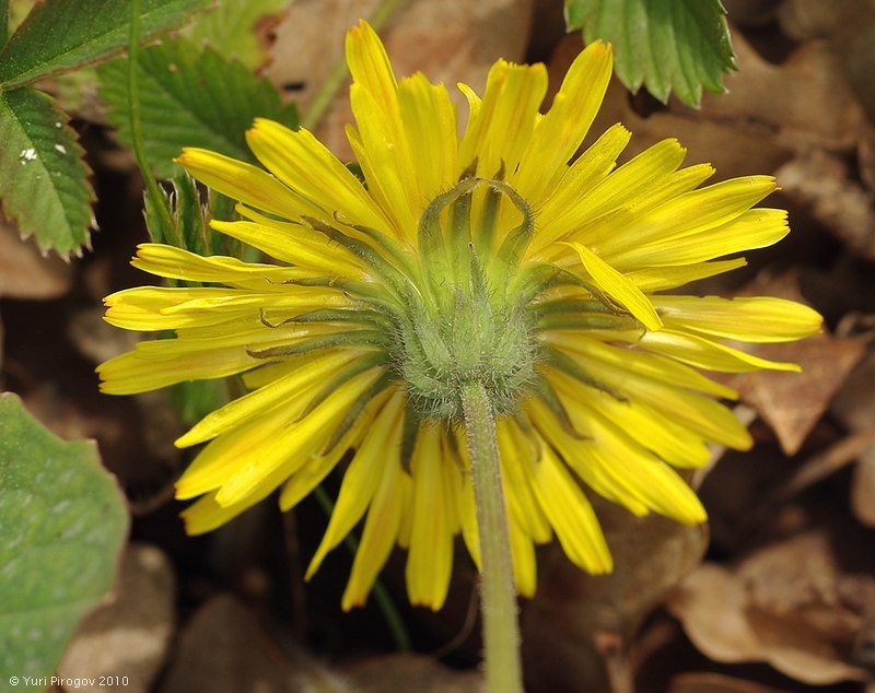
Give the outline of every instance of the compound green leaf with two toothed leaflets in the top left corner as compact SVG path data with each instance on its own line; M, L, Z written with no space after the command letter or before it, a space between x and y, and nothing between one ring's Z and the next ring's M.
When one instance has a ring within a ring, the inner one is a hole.
M143 37L178 26L209 2L143 0ZM0 50L0 197L22 236L36 236L44 250L65 256L88 245L94 191L69 118L27 85L121 52L130 8L129 0L45 0ZM0 0L0 39L9 10Z

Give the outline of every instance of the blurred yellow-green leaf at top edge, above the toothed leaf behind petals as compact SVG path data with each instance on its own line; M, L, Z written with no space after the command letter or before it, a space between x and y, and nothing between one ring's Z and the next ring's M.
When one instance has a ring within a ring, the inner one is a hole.
M258 22L288 5L289 0L224 0L211 12L199 14L183 34L198 46L206 43L255 70L268 58L255 31Z

